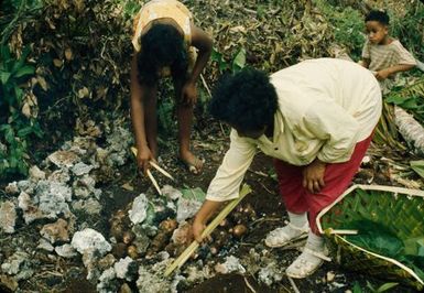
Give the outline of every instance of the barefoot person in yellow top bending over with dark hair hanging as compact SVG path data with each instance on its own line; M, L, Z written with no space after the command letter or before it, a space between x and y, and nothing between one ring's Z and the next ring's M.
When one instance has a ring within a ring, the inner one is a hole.
M157 83L172 76L177 104L180 159L192 173L203 162L189 148L196 80L209 59L211 40L193 23L192 13L176 0L152 0L134 19L131 62L131 119L144 172L157 156Z

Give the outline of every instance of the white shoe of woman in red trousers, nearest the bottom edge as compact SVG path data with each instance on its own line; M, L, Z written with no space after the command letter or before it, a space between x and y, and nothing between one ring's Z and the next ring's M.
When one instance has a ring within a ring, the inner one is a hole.
M328 256L327 247L324 247L322 251L315 251L309 248L304 248L301 256L297 257L292 264L285 270L285 273L290 278L303 279L313 274L325 261L331 261Z

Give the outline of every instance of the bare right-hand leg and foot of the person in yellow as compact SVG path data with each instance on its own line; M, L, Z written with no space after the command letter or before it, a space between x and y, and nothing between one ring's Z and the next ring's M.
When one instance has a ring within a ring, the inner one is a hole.
M193 105L182 102L182 80L175 80L174 87L177 102L180 159L188 166L192 173L198 174L202 171L203 161L194 155L189 149Z

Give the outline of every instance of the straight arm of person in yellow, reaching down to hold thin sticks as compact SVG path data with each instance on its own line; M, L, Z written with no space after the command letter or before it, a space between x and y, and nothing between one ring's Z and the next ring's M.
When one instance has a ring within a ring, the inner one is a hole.
M149 169L149 161L153 155L148 146L144 128L144 105L143 96L146 87L141 86L138 80L137 55L131 61L131 121L135 135L137 162L139 167L145 172Z

